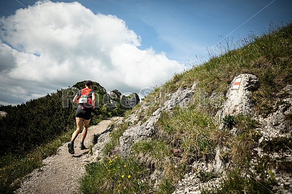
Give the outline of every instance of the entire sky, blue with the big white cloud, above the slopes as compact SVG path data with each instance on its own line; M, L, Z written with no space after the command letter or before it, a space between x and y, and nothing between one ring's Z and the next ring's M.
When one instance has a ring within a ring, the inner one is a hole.
M143 96L207 60L223 38L235 42L271 21L291 21L291 8L291 0L2 0L0 89L15 89L0 103L85 79Z

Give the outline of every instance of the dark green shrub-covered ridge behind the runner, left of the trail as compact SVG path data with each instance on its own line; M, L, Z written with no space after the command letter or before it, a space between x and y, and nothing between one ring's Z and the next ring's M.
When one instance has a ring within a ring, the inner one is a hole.
M97 107L92 111L91 125L97 124L103 118L121 116L125 110L136 104L131 103L133 96L139 102L138 95L134 94L127 96L126 102L122 102L128 106L122 105L121 99L125 96L118 90L111 92L118 95L110 96L99 83L93 83L93 89L97 93ZM77 104L73 104L72 99L76 91L84 88L84 85L85 81L81 81L73 87L57 90L51 95L48 93L44 97L16 106L0 105L0 111L7 112L0 117L0 156L6 153L25 153L49 142L62 132L75 128Z

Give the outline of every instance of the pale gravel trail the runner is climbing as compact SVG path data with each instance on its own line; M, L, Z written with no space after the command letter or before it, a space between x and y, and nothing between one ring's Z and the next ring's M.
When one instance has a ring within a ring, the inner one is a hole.
M98 125L88 129L84 144L89 147L92 144L94 134L98 134L108 128L113 120L122 119L114 117L101 121ZM67 143L59 147L56 155L43 160L46 164L41 169L34 170L16 193L76 193L79 188L78 179L85 174L83 164L90 160L89 148L81 150L79 148L81 134L75 140L75 154L68 152Z

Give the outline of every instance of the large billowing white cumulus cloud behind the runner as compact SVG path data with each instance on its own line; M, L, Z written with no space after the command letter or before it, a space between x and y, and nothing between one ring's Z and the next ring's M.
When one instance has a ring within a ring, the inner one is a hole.
M25 102L86 79L108 91L138 93L183 69L165 53L139 49L141 37L124 20L94 14L79 2L38 1L1 17L0 26L3 104Z

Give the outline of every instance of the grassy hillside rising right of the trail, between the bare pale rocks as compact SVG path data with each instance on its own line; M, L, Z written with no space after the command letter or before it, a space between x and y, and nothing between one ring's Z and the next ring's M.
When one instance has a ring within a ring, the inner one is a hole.
M235 125L238 136L232 136L228 130L218 130L214 120L221 101L212 101L210 96L226 94L227 87L234 76L251 73L259 78L259 88L252 92L255 114L266 117L274 111L273 105L279 98L278 92L292 83L292 24L274 27L263 34L250 34L237 42L227 42L226 47L218 47L220 55L210 50L209 61L174 75L160 87L143 99L140 106L132 112L139 112L143 122L167 99L160 93L172 93L180 86L191 87L198 81L196 94L187 109L174 108L172 113L163 112L157 123L158 132L152 140L143 140L133 145L134 153L129 158L111 155L111 150L119 144L119 137L131 123L116 126L106 144L104 152L109 154L102 162L87 166L87 175L81 185L82 193L172 193L173 185L183 174L192 170L188 166L193 161L208 162L214 159L215 147L223 145L230 151L222 155L225 162L232 164L226 172L221 187L214 187L214 193L267 193L274 191L277 184L270 169L292 171L292 161L276 164L270 158L257 158L253 172L249 172L250 159L256 157L252 149L260 138L257 130L259 122L254 115L237 115L225 118L225 122ZM214 55L214 56L213 56ZM126 116L127 117L127 116ZM291 116L287 116L291 121ZM132 123L135 124L135 123ZM266 142L265 150L277 147L283 151L292 148L291 136ZM279 165L279 166L276 166ZM162 172L162 181L157 188L149 182L153 172ZM270 174L269 176L267 174ZM200 180L208 181L212 172L199 171ZM253 177L259 177L258 180ZM204 191L208 193L210 191Z

